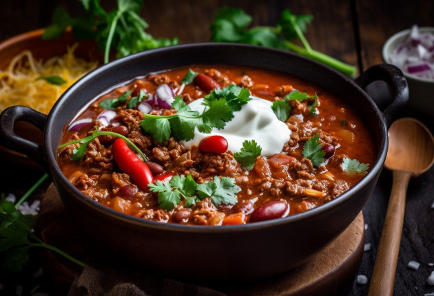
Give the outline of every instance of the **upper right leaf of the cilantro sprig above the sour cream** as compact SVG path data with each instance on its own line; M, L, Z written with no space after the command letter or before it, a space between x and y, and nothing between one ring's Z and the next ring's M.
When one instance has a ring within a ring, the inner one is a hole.
M214 89L204 98L204 103L207 104L213 100L224 98L226 103L232 107L234 112L240 111L242 105L251 101L250 91L247 88L239 87L238 85L228 85L223 89Z

